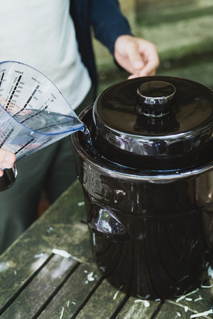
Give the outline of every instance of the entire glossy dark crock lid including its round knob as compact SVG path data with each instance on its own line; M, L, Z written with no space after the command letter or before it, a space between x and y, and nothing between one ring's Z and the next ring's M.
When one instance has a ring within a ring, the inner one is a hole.
M93 121L95 146L106 158L180 156L212 139L213 91L183 78L126 80L97 98Z

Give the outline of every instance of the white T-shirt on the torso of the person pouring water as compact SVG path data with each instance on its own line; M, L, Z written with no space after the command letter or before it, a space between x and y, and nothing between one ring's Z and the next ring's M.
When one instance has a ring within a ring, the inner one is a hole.
M69 0L0 0L0 61L41 71L76 108L91 80L80 59L69 5Z

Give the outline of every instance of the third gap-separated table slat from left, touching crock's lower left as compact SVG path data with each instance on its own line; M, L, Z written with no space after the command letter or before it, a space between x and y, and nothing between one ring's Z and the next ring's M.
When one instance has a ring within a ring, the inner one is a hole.
M110 319L116 313L117 309L126 300L125 293L118 292L117 289L111 286L106 279L95 290L95 293L87 301L76 319ZM115 298L113 300L113 297Z

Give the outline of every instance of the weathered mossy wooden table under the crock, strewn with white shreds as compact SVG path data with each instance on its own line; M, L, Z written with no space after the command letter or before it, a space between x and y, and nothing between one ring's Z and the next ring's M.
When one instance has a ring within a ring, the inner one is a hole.
M150 301L144 307L110 286L93 261L82 202L77 181L0 256L1 319L188 319L211 308L213 287L200 288L188 296L192 300ZM53 248L72 257L55 255ZM95 280L87 281L91 272Z

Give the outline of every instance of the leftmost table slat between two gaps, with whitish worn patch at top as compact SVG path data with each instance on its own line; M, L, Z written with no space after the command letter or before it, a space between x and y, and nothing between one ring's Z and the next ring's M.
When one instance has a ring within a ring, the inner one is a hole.
M1 315L1 319L35 318L78 264L72 258L54 255Z

